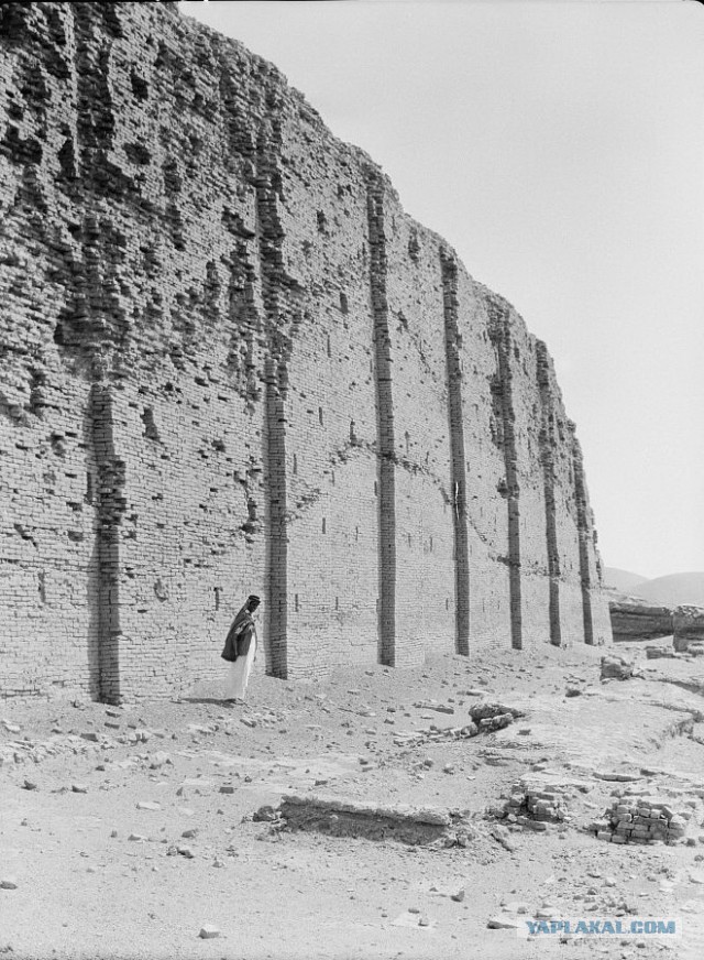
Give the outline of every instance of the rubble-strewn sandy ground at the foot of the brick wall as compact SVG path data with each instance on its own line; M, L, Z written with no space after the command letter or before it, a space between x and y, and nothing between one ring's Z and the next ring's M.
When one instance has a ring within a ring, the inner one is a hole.
M1 701L0 953L700 960L702 661L603 656ZM517 934L631 916L683 936Z

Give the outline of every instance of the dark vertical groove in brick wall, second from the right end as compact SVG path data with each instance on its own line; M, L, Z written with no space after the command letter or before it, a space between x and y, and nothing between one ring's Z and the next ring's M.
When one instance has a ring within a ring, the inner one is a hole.
M560 550L556 520L556 477L554 450L554 397L550 384L548 348L542 340L536 341L538 390L540 393L540 462L546 500L546 541L548 549L550 643L560 646L562 630L560 625Z

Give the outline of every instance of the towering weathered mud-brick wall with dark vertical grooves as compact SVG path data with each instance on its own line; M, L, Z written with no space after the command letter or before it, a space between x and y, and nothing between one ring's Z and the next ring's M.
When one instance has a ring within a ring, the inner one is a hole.
M610 641L546 347L271 64L0 8L0 694Z

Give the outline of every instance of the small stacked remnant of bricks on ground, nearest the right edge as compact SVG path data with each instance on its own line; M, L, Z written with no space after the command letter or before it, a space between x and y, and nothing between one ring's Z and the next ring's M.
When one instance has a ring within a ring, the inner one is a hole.
M664 800L625 796L587 829L612 843L675 843L684 837L686 822Z

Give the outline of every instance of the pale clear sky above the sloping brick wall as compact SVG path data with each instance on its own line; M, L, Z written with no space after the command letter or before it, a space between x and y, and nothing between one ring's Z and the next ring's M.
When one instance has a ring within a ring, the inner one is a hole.
M275 63L547 341L604 563L704 570L704 6L179 6Z

